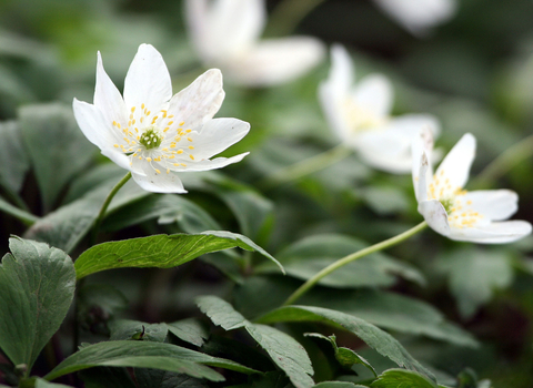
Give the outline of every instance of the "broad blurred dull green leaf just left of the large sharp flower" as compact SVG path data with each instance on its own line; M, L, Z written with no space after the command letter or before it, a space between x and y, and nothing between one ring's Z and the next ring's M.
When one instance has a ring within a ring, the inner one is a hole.
M26 105L19 116L44 212L49 212L63 186L87 166L97 147L78 127L70 105Z

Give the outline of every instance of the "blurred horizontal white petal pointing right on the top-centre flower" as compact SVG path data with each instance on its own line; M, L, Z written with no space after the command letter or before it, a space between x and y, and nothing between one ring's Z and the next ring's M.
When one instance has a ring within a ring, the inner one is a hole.
M269 86L292 81L314 68L324 55L322 42L311 37L263 40L235 61L223 64L234 83Z

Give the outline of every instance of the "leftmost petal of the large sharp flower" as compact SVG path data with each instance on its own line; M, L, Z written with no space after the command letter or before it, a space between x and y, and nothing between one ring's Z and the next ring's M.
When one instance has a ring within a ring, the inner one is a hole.
M117 139L112 133L111 123L103 118L102 112L94 105L74 99L72 103L78 126L86 137L100 150L112 147Z

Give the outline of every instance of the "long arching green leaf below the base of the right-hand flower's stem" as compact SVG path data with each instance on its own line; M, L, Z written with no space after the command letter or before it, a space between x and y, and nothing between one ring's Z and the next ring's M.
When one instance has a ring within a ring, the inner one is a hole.
M329 324L355 334L379 354L389 357L400 367L419 371L433 379L433 375L425 369L408 350L390 334L381 330L374 325L349 314L335 312L329 308L312 306L288 306L273 310L257 319L262 324L274 324L280 321L319 321Z

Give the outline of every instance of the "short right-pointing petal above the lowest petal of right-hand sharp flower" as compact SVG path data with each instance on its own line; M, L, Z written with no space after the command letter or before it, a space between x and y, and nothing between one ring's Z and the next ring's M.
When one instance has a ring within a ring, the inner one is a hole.
M479 212L489 219L507 219L519 208L519 195L510 190L486 190L469 192L464 195L462 203L474 212Z

